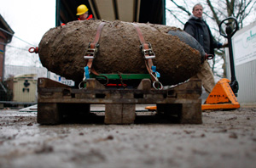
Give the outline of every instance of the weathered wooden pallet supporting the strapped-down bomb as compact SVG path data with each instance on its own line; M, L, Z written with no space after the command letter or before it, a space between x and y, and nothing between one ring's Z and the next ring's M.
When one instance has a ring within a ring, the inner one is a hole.
M193 80L168 90L154 90L143 79L137 89L107 89L89 79L86 89L68 87L47 78L38 78L38 123L61 124L63 116L90 116L90 104L105 104L105 124L131 124L136 104L156 104L157 113L177 115L179 123L201 124L201 81Z

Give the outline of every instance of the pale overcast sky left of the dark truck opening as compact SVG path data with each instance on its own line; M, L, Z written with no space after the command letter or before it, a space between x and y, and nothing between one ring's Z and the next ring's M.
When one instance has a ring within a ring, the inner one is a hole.
M55 26L55 0L0 0L0 14L15 36L38 45L44 33ZM11 44L27 45L15 37Z

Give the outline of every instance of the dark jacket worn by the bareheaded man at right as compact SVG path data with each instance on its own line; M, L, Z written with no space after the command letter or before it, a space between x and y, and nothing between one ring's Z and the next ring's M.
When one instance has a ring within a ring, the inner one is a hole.
M204 25L206 26L204 26ZM188 31L188 25L191 25L194 30L194 37L195 39L201 44L203 48L205 48L205 42L204 39L209 38L210 42L210 48L209 48L209 53L214 55L214 48L220 48L222 45L221 43L216 42L213 40L212 33L210 31L209 25L204 20L196 19L195 17L191 17L187 23L184 25L184 31ZM205 27L205 28L204 28ZM187 29L186 29L187 28ZM207 29L207 30L206 30ZM191 30L189 30L191 31ZM204 31L208 31L207 36L204 36ZM189 33L190 34L190 33ZM192 36L192 35L191 35ZM206 49L205 49L206 50ZM207 53L207 51L205 51Z

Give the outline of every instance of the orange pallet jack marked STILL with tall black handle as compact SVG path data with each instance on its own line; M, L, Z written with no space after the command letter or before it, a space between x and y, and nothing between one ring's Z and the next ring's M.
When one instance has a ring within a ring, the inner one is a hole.
M221 26L223 24L226 25L226 34L221 31ZM231 37L236 33L237 30L238 23L234 17L229 17L219 24L220 35L227 38L229 43L231 81L226 78L218 81L215 87L213 87L212 92L208 95L206 102L201 105L201 110L240 108L240 104L236 99L239 87L238 81L236 81L231 41ZM156 110L156 106L147 106L145 109Z

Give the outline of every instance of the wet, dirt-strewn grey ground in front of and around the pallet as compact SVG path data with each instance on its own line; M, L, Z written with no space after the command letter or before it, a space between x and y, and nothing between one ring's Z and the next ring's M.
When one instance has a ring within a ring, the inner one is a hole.
M35 112L0 110L0 167L232 167L256 165L256 108L203 112L202 125L137 117L131 125L42 126Z

